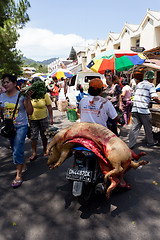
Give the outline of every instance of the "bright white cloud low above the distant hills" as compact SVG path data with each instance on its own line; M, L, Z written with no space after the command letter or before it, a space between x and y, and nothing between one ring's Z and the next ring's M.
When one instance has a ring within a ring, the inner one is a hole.
M34 60L68 57L72 46L87 46L94 40L85 40L76 34L55 34L47 29L24 28L19 31L17 48Z

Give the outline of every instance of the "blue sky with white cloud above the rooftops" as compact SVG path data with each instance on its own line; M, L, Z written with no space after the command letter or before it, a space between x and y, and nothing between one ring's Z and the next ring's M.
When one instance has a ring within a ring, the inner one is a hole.
M18 1L18 0L17 0ZM125 22L140 24L147 8L160 11L159 0L30 0L30 21L17 48L33 60L67 58L72 46L87 47L120 33Z

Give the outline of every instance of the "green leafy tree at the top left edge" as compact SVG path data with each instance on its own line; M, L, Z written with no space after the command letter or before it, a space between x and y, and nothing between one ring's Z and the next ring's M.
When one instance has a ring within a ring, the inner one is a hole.
M16 49L17 30L29 21L29 7L28 0L19 0L18 3L14 0L0 1L0 75L5 72L20 75L22 72L22 55Z

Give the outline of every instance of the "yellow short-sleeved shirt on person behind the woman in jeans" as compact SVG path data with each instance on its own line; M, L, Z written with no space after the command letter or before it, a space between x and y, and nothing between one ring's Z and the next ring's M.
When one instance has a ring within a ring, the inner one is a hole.
M48 116L48 111L46 106L51 105L52 103L48 93L45 94L44 99L39 99L39 100L33 99L31 102L33 106L33 114L29 116L30 120L40 120Z

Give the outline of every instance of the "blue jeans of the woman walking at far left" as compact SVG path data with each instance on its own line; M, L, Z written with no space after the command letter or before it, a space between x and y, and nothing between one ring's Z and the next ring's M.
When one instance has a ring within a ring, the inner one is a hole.
M10 144L13 151L13 163L23 164L24 143L28 131L28 125L16 126L14 138L10 138Z

